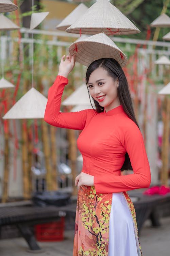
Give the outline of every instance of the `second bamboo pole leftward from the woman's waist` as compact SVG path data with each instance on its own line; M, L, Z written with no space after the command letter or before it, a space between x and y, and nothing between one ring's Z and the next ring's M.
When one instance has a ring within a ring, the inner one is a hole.
M56 150L56 127L50 126L51 142L51 162L52 162L52 190L58 189L58 169L57 169L57 150Z

